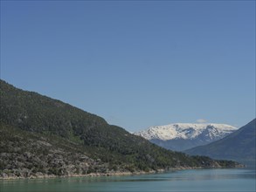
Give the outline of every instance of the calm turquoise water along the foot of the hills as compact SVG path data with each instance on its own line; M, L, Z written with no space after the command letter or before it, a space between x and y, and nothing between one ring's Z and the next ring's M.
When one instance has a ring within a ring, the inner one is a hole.
M164 174L0 181L1 192L255 192L255 169L197 169Z

